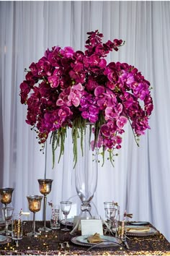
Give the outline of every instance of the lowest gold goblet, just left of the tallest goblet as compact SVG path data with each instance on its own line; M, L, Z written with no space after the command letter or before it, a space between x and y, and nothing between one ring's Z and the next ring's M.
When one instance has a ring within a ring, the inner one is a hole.
M38 236L40 233L35 232L35 213L41 208L42 195L27 196L29 210L33 213L33 231L27 233L27 236Z

